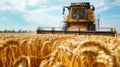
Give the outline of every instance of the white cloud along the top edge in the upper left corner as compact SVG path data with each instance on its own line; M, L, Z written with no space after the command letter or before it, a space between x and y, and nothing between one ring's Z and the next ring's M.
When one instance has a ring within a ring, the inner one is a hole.
M47 3L47 0L0 0L0 10L24 12L28 7L36 7L42 3Z

